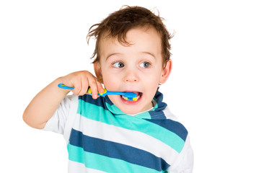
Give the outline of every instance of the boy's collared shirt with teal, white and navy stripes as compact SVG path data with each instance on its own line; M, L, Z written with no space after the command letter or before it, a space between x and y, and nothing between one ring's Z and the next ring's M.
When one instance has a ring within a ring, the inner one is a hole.
M125 115L110 99L68 96L45 125L62 133L69 173L192 172L187 130L156 92L154 109Z

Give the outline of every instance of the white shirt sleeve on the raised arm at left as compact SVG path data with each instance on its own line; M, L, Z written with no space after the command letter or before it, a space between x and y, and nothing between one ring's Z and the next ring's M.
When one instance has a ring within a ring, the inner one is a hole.
M53 131L63 134L66 128L66 122L71 112L72 99L74 95L67 95L58 106L58 109L50 117L43 130Z

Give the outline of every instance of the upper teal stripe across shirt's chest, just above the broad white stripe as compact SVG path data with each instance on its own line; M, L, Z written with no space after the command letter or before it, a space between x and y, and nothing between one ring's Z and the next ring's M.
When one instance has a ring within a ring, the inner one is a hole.
M83 107L82 110L81 107ZM97 120L109 125L115 125L121 128L146 133L147 135L166 143L168 146L174 148L178 153L182 151L185 143L180 136L177 136L177 134L167 130L166 128L162 128L159 125L131 115L115 116L112 115L109 110L84 102L81 99L79 100L79 109L77 113L91 120Z

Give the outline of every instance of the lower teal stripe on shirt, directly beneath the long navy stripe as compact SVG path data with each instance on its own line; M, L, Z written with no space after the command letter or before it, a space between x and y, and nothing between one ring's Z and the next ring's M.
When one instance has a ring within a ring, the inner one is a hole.
M103 172L147 172L159 173L154 169L141 167L136 164L128 163L120 159L114 159L100 154L94 154L84 151L83 148L72 146L70 143L67 146L69 151L69 160L84 164L89 169L96 169Z

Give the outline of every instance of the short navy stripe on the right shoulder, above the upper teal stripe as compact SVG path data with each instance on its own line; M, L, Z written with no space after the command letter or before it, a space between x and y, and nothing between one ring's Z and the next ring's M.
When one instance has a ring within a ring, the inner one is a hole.
M183 141L186 141L187 138L187 129L179 122L174 120L149 120L145 119L151 123L155 123L157 125L162 126L163 128L166 128L167 130L172 131L177 136L180 136Z

